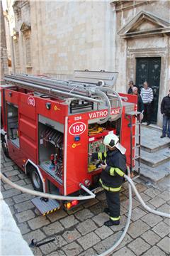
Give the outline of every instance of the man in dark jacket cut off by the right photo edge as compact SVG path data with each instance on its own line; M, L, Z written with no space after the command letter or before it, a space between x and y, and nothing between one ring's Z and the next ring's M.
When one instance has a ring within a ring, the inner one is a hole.
M163 129L161 138L166 137L166 132L170 138L170 90L169 94L165 96L161 103L161 112L163 114Z

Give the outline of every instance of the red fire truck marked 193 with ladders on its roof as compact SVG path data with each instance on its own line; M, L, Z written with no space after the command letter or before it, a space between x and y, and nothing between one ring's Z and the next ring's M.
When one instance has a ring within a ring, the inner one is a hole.
M98 190L101 167L91 152L104 151L103 137L115 133L135 159L137 97L113 90L118 73L75 71L72 80L45 75L6 75L1 85L1 141L4 154L26 174L37 191L74 196L82 183ZM140 134L139 134L140 136ZM52 208L42 209L42 214ZM78 201L64 203L71 208ZM53 207L59 208L59 207Z

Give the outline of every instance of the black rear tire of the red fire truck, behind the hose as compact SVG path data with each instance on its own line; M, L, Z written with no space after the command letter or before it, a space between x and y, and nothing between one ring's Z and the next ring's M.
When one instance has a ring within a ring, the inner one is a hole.
M30 166L29 170L30 170L30 179L33 183L33 188L35 189L35 191L43 192L42 181L41 181L40 175L38 174L37 169L34 166Z

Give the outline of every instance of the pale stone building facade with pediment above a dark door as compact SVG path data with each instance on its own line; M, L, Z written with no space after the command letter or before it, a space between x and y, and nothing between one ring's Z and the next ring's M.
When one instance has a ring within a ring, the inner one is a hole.
M153 122L170 81L170 1L13 1L13 69L70 78L74 70L119 73L115 90L149 81ZM10 13L9 10L9 13Z

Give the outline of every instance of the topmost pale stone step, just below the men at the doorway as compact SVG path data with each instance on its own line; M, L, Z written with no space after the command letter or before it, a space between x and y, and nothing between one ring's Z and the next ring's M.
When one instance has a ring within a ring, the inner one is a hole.
M141 149L148 152L156 152L170 146L170 139L165 137L161 139L162 132L158 129L141 127Z

